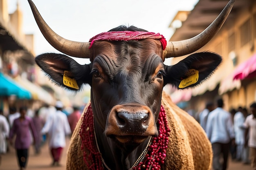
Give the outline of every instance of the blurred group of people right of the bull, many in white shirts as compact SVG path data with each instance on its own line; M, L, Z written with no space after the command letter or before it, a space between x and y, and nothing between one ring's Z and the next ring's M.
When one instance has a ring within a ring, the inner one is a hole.
M256 170L256 103L247 108L223 109L222 99L209 102L198 121L205 130L213 149L213 170L226 170L228 158L251 164Z

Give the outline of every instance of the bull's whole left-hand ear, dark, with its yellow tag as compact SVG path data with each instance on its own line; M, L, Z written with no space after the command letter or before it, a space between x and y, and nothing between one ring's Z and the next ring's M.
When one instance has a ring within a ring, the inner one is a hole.
M45 53L36 57L36 64L54 83L78 91L83 84L90 84L90 65L81 65L72 58L55 53Z

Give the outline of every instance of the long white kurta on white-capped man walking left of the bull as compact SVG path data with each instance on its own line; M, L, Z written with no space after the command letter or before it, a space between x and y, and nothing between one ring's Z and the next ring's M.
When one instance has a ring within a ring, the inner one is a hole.
M66 146L65 136L71 134L65 113L56 110L56 113L49 115L41 132L48 133L50 148L64 148Z

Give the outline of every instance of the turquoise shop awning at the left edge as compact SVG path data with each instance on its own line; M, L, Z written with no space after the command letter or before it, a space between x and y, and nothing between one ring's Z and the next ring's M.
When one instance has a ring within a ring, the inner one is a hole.
M31 93L18 84L11 78L0 73L0 96L16 95L18 99L31 99Z

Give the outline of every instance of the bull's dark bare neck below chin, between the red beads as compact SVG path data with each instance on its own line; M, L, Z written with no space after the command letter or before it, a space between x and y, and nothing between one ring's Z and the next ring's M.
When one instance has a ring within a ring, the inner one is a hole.
M150 137L139 146L120 145L120 143L114 141L114 139L102 135L104 134L104 130L99 128L97 124L94 125L99 152L101 152L102 158L106 164L104 165L105 169L107 169L106 166L111 170L130 169L137 161L137 158L143 154L145 148L149 145Z

